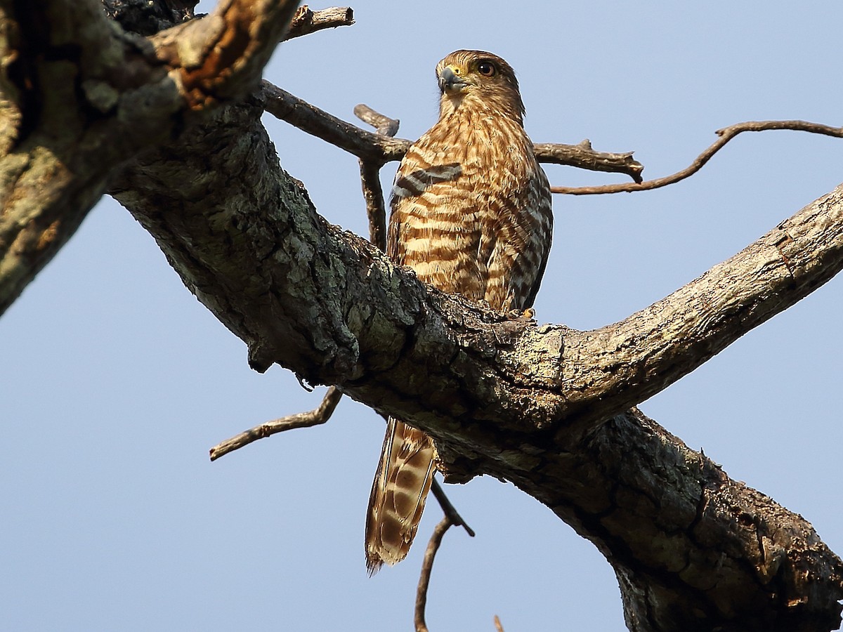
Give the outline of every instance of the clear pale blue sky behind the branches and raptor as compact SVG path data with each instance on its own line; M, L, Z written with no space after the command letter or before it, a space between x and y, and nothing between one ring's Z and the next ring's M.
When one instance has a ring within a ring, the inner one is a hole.
M634 149L650 178L737 121L843 122L843 5L832 0L353 7L357 24L281 46L266 77L346 120L368 103L400 118L401 137L435 120L433 67L457 48L513 65L534 141ZM357 159L266 123L319 212L365 234ZM841 156L840 139L765 132L667 189L556 196L537 318L580 329L625 318L833 189ZM560 185L620 180L548 173ZM841 289L831 281L642 404L839 553ZM0 628L411 629L440 514L428 506L421 545L368 578L363 518L383 421L344 399L326 426L209 463L215 443L308 410L322 390L278 367L250 371L245 345L114 201L0 319L0 356ZM448 491L477 537L445 538L432 632L491 632L495 613L507 632L624 629L609 565L550 510L493 479Z

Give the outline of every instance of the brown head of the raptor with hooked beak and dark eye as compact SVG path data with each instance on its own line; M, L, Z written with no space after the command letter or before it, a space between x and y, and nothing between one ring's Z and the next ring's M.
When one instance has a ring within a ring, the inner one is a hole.
M513 67L499 56L486 51L454 51L437 64L436 76L443 113L478 99L478 104L522 122L524 102L518 79Z

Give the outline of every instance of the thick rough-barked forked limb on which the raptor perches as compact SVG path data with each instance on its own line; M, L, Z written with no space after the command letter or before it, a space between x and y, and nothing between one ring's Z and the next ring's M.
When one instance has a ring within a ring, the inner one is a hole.
M172 59L174 40L158 41ZM13 75L5 68L4 92ZM208 89L216 84L207 71L180 82L191 86L186 103L204 107L222 94ZM146 85L138 81L136 90ZM64 190L78 180L93 203L110 178L185 286L249 345L256 369L278 363L336 384L430 432L451 479L491 474L549 506L613 565L631 629L838 627L843 564L810 524L627 409L840 270L843 187L663 301L576 331L429 290L330 226L282 171L262 110L257 97L228 105L119 172L119 161L83 160L43 179ZM55 125L55 115L30 113L28 129ZM147 115L172 121L167 108ZM24 158L44 142L27 138ZM15 142L3 147L0 173L24 159ZM88 155L79 142L63 151ZM31 203L64 221L88 206L81 197ZM3 199L3 219L14 199ZM14 260L0 254L0 266Z

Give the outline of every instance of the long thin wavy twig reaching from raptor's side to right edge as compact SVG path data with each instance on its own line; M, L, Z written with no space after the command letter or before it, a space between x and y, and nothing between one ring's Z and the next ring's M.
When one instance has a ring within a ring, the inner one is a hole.
M672 185L674 182L679 182L688 176L695 174L702 169L711 156L717 153L727 142L738 136L744 131L767 131L767 130L793 130L793 131L808 131L812 134L824 134L825 136L833 136L843 138L843 127L831 127L821 123L810 123L808 121L747 121L745 123L736 123L735 125L723 127L722 130L717 130L715 133L720 138L716 142L711 143L706 151L696 157L693 163L688 167L677 171L673 175L665 176L664 178L657 178L654 180L647 180L638 184L625 185L601 185L601 186L554 186L551 187L554 193L566 193L569 195L593 195L598 193L621 193L629 191L643 191L649 189L658 189L662 186Z

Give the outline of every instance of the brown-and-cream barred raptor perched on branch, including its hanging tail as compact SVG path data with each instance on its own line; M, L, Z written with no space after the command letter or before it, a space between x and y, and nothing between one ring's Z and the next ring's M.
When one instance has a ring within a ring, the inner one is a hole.
M395 176L387 254L443 292L524 310L545 271L553 218L515 72L491 53L455 51L436 75L439 121ZM370 573L405 558L435 463L430 437L389 419L366 521Z

